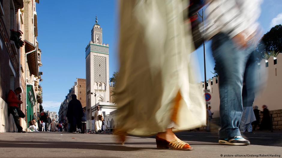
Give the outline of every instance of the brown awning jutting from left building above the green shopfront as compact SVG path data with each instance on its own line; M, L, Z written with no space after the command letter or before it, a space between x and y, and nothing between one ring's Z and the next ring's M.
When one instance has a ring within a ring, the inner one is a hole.
M25 51L26 53L35 50L35 46L28 42L27 40L25 40ZM29 71L32 75L34 76L38 76L38 61L37 61L37 51L34 51L32 53L27 54L27 63L29 65Z

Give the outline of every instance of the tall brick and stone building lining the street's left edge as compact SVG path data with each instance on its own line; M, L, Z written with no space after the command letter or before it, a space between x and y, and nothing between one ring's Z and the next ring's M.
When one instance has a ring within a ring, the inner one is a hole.
M37 41L36 3L23 0L0 0L0 132L16 131L13 117L7 116L7 93L22 88L19 107L25 118L20 119L23 130L42 102L41 50Z

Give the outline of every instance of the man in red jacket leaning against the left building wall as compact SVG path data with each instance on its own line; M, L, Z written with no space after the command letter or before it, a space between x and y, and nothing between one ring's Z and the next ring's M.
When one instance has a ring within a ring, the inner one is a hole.
M25 118L26 115L19 109L19 104L22 104L22 101L18 99L17 95L22 93L20 87L16 88L14 91L10 90L8 93L7 101L9 103L9 114L13 115L16 127L18 128L19 133L26 133L22 130L22 126L19 124L19 118Z

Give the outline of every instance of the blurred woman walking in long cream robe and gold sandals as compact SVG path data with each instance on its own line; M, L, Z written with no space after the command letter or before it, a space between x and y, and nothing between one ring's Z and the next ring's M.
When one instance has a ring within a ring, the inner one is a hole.
M157 134L158 148L192 150L173 132L205 125L187 6L182 0L120 1L116 134L122 142L126 133Z

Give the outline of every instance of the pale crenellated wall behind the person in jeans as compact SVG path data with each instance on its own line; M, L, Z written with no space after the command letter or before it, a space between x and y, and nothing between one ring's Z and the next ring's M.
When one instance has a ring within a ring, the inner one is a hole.
M268 62L268 67L265 67L265 62ZM276 73L275 73L276 69ZM216 83L216 78L208 80L208 87L211 92L211 111L214 112L213 117L219 117L219 88L218 83L220 77ZM211 85L211 81L213 84ZM268 61L262 59L260 62L260 69L258 69L256 81L258 93L255 95L253 105L257 105L259 110L262 110L262 105L267 105L268 110L282 109L282 53L277 56L277 64L274 65L274 57L270 57ZM203 83L199 83L199 88L202 88ZM202 88L204 90L204 88Z

